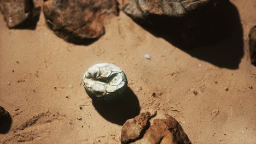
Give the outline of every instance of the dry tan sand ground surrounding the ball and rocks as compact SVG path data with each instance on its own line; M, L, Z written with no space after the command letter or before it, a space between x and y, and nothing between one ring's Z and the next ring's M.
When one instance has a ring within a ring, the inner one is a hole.
M256 68L248 53L256 1L232 3L243 28L236 54L235 34L185 52L122 12L107 17L106 34L87 46L58 38L43 14L35 30L8 29L1 14L0 105L12 124L0 143L120 143L122 118L138 106L176 118L192 143L256 143ZM84 72L101 62L125 71L133 97L126 111L107 111L113 117L95 109L83 88Z

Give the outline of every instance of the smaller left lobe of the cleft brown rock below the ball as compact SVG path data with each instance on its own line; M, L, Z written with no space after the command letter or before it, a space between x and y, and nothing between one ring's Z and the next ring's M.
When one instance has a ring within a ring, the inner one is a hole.
M142 136L142 132L149 126L150 113L143 112L135 118L128 119L122 128L121 143L130 143Z

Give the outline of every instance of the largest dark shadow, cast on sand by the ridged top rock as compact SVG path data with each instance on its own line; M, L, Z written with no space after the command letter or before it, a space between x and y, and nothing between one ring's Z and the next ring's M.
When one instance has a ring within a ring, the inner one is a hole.
M243 29L237 8L229 1L219 1L207 14L150 16L147 20L151 23L137 23L195 58L228 69L237 69L241 62Z

